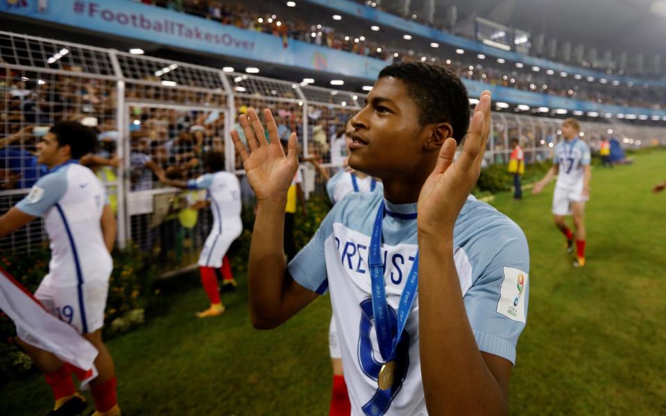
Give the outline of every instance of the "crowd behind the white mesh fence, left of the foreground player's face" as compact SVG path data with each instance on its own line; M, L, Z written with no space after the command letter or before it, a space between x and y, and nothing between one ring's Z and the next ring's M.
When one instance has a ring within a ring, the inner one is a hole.
M109 80L80 76L76 68L65 69L72 71L72 75L9 69L0 73L0 190L28 189L45 173L35 157L40 140L39 129L35 128L48 128L63 120L93 120L99 151L95 158L83 162L94 167L103 180L116 179L117 175L103 167L120 164L114 157L117 140L122 137L117 125L117 86ZM144 80L155 81L152 73ZM250 88L246 80L243 83ZM270 95L269 91L253 93ZM126 166L132 191L160 188L157 177L161 173L171 179L197 177L204 173L202 161L207 152L224 152L225 115L219 110L204 110L223 107L226 104L223 95L139 83L126 83L125 95L128 100L156 103L128 110L130 151ZM160 107L160 102L193 105L202 110ZM275 105L255 97L238 98L237 102L239 113L246 112L248 107ZM281 103L276 109L275 119L282 139L287 139L292 131L303 137L302 109L297 101ZM324 154L328 152L330 135L345 124L352 112L352 109L310 107L309 153L321 155L320 159L327 157ZM234 128L241 130L237 123ZM242 168L240 160L236 167Z

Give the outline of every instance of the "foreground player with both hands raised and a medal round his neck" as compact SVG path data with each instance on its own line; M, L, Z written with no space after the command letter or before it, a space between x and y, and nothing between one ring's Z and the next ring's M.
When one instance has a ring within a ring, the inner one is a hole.
M288 267L282 212L298 168L296 135L285 157L268 110L271 144L254 111L239 118L249 153L232 132L258 201L253 325L277 327L330 291L352 415L507 411L529 251L518 225L470 196L490 130L489 92L469 116L466 89L447 69L382 69L352 119L349 165L381 179L384 196L343 198Z

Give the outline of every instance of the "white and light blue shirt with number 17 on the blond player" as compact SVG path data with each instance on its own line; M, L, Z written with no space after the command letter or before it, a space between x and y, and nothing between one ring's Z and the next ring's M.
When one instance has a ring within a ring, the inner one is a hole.
M557 175L557 188L581 187L585 177L583 166L590 166L590 147L581 139L563 140L556 144L553 163L560 167Z

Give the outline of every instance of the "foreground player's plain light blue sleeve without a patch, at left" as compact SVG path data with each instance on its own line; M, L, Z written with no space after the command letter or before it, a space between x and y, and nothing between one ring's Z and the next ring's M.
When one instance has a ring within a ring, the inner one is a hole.
M326 274L325 244L333 234L333 218L336 207L333 207L319 225L314 237L289 262L289 274L296 283L319 295L328 289Z

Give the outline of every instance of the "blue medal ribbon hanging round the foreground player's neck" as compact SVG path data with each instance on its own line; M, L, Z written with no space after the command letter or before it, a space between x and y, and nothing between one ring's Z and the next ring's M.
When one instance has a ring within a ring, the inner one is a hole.
M416 214L411 214L409 218L416 218ZM400 342L402 331L409 311L416 299L418 290L418 251L416 258L411 266L407 281L405 282L400 304L398 306L398 328L394 331L391 326L391 320L388 317L388 303L386 302L386 288L384 285L384 266L382 266L382 220L384 219L384 202L379 205L375 225L373 226L373 235L370 239L370 256L368 266L370 266L370 282L372 284L372 302L373 315L375 318L375 329L377 331L377 343L379 344L379 353L382 354L384 362L391 361L395 354L395 347Z

